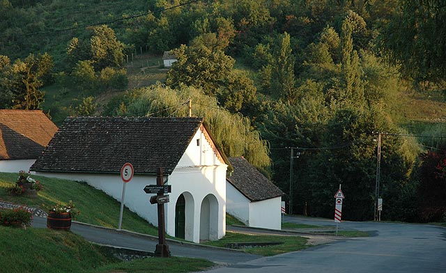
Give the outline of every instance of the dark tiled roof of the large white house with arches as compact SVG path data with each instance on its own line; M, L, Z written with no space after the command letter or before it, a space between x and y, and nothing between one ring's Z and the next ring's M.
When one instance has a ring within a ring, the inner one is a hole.
M67 118L31 171L134 173L174 171L202 118Z

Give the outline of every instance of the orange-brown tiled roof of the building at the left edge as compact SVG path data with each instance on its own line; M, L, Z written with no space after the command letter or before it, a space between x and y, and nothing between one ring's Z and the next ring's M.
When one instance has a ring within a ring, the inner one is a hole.
M36 159L56 131L43 111L0 109L0 159Z

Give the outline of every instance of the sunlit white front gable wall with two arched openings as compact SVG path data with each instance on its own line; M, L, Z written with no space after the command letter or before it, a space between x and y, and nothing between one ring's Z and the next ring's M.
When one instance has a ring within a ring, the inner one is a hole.
M210 213L217 217L210 217L210 239L216 240L226 233L226 169L227 165L221 162L215 155L215 150L210 145L203 128L198 130L192 138L183 157L181 157L176 169L169 177L172 185L170 202L167 203L167 233L175 234L175 205L176 200L187 192L192 194L194 201L193 226L187 220L185 239L193 242L200 240L201 204L209 194L215 197L217 206L210 206ZM214 200L210 198L210 200ZM206 199L205 202L207 202ZM186 200L187 206L187 200ZM187 210L187 209L186 209ZM187 213L187 212L186 212ZM192 233L188 232L192 229Z

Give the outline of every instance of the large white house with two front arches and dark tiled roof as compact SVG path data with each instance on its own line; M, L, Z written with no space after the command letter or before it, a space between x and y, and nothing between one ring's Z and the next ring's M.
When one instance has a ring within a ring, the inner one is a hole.
M31 171L85 181L121 201L126 162L134 167L125 189L130 210L157 226L157 205L143 189L156 185L162 167L172 188L164 204L166 232L193 242L224 236L231 167L203 118L67 118Z

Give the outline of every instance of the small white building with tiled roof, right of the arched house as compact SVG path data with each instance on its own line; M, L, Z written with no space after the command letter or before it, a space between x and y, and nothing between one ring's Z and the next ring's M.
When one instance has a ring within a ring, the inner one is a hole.
M247 162L231 157L233 173L226 178L226 212L256 228L282 228L281 201L284 192Z

